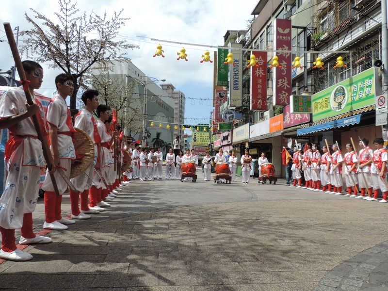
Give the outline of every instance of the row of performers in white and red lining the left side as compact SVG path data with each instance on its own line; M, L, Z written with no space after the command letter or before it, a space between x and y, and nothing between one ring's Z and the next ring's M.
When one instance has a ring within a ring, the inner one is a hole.
M7 177L0 197L0 258L16 261L32 259L32 255L16 248L15 229L21 229L20 244L51 242L49 237L36 235L32 229L40 172L45 168L42 143L32 122L33 115L36 114L39 121L43 142L50 145L51 155L48 156L55 166L47 171L41 186L45 191L44 228L64 230L67 225L75 223L73 219L89 219L90 214L97 214L110 206L103 200L112 201L117 191L122 190L119 173L113 169L114 160L119 159L114 156L113 147L118 148L119 139L116 132L110 132L110 108L99 105L98 92L87 90L82 94L85 107L75 117L73 126L65 101L73 94L72 76L60 74L55 78L58 94L49 101L45 113L34 94L34 90L42 85L43 68L33 61L24 61L22 65L27 81L21 87L4 90L0 98L0 129L9 129L4 154ZM34 100L32 105L26 102L25 92L28 90ZM93 111L97 111L97 121ZM95 156L86 171L70 179L74 186L69 193L72 219L66 219L61 215L62 194L67 191L72 164L79 158L73 140L77 131L75 128L90 136ZM118 149L116 152L119 152ZM61 171L67 179L60 175ZM52 183L51 176L55 178L55 183ZM57 186L58 193L53 184Z

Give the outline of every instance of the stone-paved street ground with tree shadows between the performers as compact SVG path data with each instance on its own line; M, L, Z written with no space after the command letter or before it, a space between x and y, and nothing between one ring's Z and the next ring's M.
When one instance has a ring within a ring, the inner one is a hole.
M31 261L0 264L0 289L387 291L387 210L281 180L136 180L105 212L28 246Z

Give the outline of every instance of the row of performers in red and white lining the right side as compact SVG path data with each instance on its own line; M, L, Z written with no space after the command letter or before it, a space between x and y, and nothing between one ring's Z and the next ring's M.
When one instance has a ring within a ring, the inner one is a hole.
M346 144L344 156L337 144L332 146L332 154L327 146L323 146L322 155L318 146L311 143L305 145L303 153L295 146L291 167L293 184L290 187L341 195L344 172L348 190L346 196L378 201L380 190L383 193L380 203L387 203L388 188L385 178L388 156L383 144L382 138L376 138L373 141L373 151L368 146L369 140L362 138L359 142L362 148L359 153L357 154L349 143ZM306 180L304 187L301 170Z

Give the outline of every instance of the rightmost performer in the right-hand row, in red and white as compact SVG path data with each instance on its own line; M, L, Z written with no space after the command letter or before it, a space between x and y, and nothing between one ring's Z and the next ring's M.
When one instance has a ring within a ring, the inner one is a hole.
M368 199L369 201L377 201L377 197L379 195L379 189L383 193L383 199L380 200L380 203L387 203L387 197L388 197L388 189L386 184L384 183L384 180L386 181L386 175L387 175L387 161L388 161L388 155L387 150L383 147L384 140L380 138L376 138L373 141L374 146L376 147L376 150L373 152L373 162L371 166L371 172L372 172L372 182L374 186L374 194L373 197Z

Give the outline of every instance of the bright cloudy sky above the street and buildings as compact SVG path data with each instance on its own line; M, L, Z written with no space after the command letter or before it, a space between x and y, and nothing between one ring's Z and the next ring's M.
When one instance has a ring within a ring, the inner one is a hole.
M0 21L10 22L11 27L19 26L19 31L31 29L24 14L30 17L34 13L30 8L48 16L56 22L54 12L59 12L56 0L18 0L17 6L12 1L1 1ZM73 1L72 3L76 3ZM212 111L213 97L213 64L200 63L205 50L210 51L213 59L215 49L207 46L224 44L227 30L246 29L246 21L251 19L251 12L257 1L239 0L79 0L77 8L80 12L93 12L99 16L123 9L121 17L130 18L118 33L117 40L126 40L128 44L138 45L140 49L126 51L134 65L139 67L146 76L165 79L172 83L177 90L182 91L186 99L185 117L187 123L208 123ZM22 7L22 8L20 8ZM37 23L39 20L34 19ZM152 41L151 39L158 39ZM6 41L4 28L0 27L0 69L6 71L14 65L12 54ZM201 44L203 47L172 44L165 41L179 43ZM19 38L22 44L23 37ZM161 56L152 57L156 46L162 45ZM188 61L177 60L177 52L184 47ZM25 56L21 57L26 59ZM55 93L54 78L62 73L61 70L49 68L49 63L41 64L44 68L44 81L39 93L53 96ZM207 100L209 99L209 101ZM202 103L202 104L201 104Z

